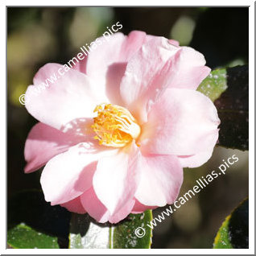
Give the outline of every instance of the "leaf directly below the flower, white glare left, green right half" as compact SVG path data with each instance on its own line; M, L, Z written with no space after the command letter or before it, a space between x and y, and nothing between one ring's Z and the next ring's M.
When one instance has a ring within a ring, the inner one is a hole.
M72 214L69 248L150 248L152 230L147 226L152 220L151 210L141 214L130 214L117 225L99 224L88 214ZM139 229L138 228L142 228ZM145 234L142 237L137 237Z

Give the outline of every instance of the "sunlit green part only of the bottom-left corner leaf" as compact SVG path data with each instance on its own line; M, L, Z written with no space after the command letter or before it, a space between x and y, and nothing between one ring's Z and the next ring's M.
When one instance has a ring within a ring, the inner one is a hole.
M20 224L8 230L8 245L12 248L26 249L58 249L58 237L50 237L39 233L31 227Z

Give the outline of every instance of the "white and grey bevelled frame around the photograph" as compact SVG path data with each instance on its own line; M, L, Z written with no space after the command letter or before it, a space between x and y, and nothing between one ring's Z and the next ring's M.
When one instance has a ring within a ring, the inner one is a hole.
M128 1L127 1L128 2ZM87 0L86 6L105 6L105 3L108 3L108 6L128 6L127 2L120 2L118 0L109 0L105 2L104 0ZM66 2L57 1L57 0L44 0L40 2L32 0L23 0L23 2L17 0L4 1L1 5L1 35L6 35L6 6L20 6L20 3L23 3L23 6L70 6L65 5ZM145 2L142 0L130 0L129 6L144 6ZM249 229L249 249L6 249L6 211L1 211L1 229L0 229L0 254L254 254L254 1L236 1L236 0L179 0L179 1L164 1L158 0L157 5L155 1L147 1L147 6L250 6L249 8L249 46L250 46L250 57L249 57L249 134L250 134L250 151L249 151L249 195L250 195L250 229ZM84 6L85 1L72 0L72 6ZM239 39L239 38L238 38ZM1 40L1 52L2 56L6 56L6 36L5 39ZM7 61L7 60L6 60ZM5 77L6 82L6 63L2 61L1 64L1 77ZM6 84L6 83L5 83ZM1 109L1 119L6 120L6 88L4 85L1 86L1 102L2 105L5 105ZM6 126L1 126L1 163L6 163ZM6 164L3 169L6 169ZM1 186L1 202L2 205L6 205L6 172L2 170L2 179L0 179ZM6 207L5 207L6 208Z

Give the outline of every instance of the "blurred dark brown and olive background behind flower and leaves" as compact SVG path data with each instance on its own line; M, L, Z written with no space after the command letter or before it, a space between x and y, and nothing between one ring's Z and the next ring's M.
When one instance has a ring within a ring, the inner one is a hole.
M122 23L121 32L146 31L177 39L205 56L210 68L248 64L248 8L224 7L63 7L7 8L7 192L8 198L40 188L40 171L23 174L24 143L37 122L19 103L35 72L48 62L65 64L80 47L101 36L107 26ZM184 204L154 230L152 248L212 248L225 217L248 196L248 152L217 147L204 166L184 170L180 196L236 154L239 161L226 175ZM165 209L165 208L163 208ZM156 209L154 215L163 209ZM11 214L8 212L8 215Z

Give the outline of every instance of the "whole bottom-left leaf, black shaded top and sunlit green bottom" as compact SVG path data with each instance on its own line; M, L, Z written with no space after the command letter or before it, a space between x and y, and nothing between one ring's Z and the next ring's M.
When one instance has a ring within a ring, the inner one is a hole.
M19 192L8 200L7 244L13 248L68 247L70 213L51 206L43 192Z

